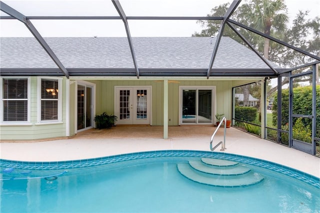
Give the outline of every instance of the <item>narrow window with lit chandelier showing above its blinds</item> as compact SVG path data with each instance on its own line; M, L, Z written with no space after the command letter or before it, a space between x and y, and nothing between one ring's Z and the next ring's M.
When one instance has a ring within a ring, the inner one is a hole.
M38 122L61 121L61 79L39 78Z

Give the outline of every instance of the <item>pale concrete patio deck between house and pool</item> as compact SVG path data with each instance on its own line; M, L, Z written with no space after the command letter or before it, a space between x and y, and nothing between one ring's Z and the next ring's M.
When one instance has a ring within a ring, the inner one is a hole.
M162 126L115 126L89 129L69 139L41 142L1 142L0 158L22 161L64 161L149 150L209 149L214 126L169 126L163 139ZM220 128L213 140L223 139ZM258 138L236 128L227 128L227 153L251 156L280 163L320 177L320 158ZM219 151L220 146L216 149Z

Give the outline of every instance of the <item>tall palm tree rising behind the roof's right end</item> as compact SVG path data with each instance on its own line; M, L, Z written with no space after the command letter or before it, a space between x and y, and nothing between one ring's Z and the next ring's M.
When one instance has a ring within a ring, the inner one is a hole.
M266 35L281 34L286 29L288 16L284 0L253 0L251 4L251 26ZM264 38L263 56L268 59L269 39Z

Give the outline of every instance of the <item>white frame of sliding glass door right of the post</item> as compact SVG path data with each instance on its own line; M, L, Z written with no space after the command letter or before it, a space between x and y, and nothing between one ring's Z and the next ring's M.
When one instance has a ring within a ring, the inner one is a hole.
M211 122L210 123L199 123L198 121L196 121L195 123L183 123L182 122L182 98L183 98L183 89L194 89L196 90L196 108L198 107L198 90L201 90L201 89L207 89L207 90L211 90L212 91L212 100L211 100L211 104L212 104L212 107L211 107L211 114L212 114L212 118L211 118ZM214 119L215 119L215 116L214 116L214 113L215 113L215 109L216 109L216 86L215 85L206 85L206 86L197 86L197 85L183 85L183 86L179 86L179 119L178 119L178 123L179 125L201 125L201 124L212 124L214 123Z

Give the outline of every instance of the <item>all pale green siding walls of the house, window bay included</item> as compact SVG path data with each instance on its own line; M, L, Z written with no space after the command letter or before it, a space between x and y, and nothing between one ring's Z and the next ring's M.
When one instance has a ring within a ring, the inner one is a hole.
M114 86L152 86L152 125L163 125L163 80L87 80L95 84L95 114L114 114ZM30 77L30 123L0 125L1 140L35 140L76 134L77 83L62 77L62 123L37 123L37 77ZM215 113L231 119L232 87L252 80L175 80L168 84L168 125L178 125L179 86L215 86ZM67 93L68 92L68 93ZM213 115L214 115L213 114ZM93 115L93 116L94 116ZM68 120L66 120L68 119Z

